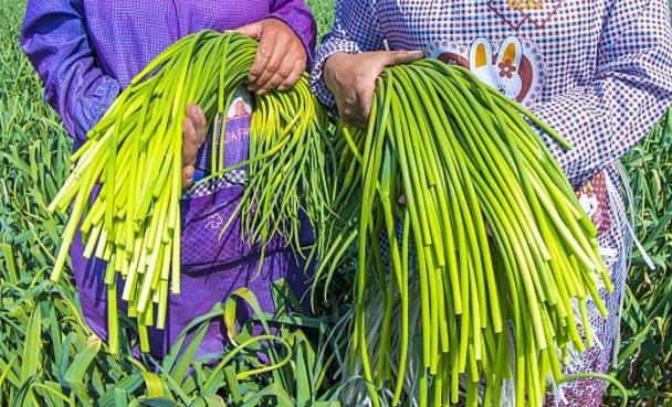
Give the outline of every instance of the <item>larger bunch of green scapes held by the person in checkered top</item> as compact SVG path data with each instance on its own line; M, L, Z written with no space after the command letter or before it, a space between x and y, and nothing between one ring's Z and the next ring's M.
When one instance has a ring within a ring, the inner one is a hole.
M314 277L329 292L330 270L356 276L344 376L364 381L346 404L540 407L570 353L596 345L587 304L606 317L613 290L533 126L571 144L462 67L379 76L368 128L338 126L339 218Z

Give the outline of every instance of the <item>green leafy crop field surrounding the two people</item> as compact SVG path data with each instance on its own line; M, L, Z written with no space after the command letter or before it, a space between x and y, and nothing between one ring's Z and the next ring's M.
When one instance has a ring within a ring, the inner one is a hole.
M324 32L333 0L312 3ZM0 406L336 406L337 389L325 376L336 374L338 360L323 320L284 325L285 350L264 352L290 363L258 374L250 374L258 367L255 351L262 351L256 344L232 350L220 368L192 362L193 346L156 362L135 358L133 342L120 357L112 356L92 336L72 281L54 286L45 277L65 221L48 214L46 205L69 173L71 143L20 50L22 14L23 1L0 0ZM658 269L648 270L636 253L612 374L630 389L631 405L672 406L672 120L624 163L637 233ZM195 330L207 323L196 321Z

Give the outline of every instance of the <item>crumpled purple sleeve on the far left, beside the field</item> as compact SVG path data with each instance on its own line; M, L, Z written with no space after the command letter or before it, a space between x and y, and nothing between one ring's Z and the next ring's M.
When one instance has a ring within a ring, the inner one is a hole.
M119 84L98 66L80 0L29 0L21 45L44 83L44 98L81 144L119 94Z

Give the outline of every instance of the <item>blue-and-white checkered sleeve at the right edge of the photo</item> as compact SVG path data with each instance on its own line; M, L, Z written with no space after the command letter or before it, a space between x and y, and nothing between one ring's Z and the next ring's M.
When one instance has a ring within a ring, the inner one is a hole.
M619 160L672 104L668 1L611 3L595 79L534 109L574 143L565 151L543 136L575 185Z

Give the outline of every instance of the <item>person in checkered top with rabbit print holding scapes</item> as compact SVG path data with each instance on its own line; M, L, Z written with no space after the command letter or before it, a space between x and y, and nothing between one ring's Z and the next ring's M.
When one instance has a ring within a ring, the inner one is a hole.
M631 254L618 162L672 105L668 1L338 0L313 89L365 127L381 71L424 55L471 69L574 143L564 151L539 133L600 232L616 290L600 292L608 319L591 310L598 345L566 373L607 372ZM600 381L574 382L557 401L597 407L603 390Z

